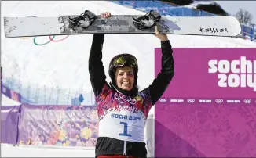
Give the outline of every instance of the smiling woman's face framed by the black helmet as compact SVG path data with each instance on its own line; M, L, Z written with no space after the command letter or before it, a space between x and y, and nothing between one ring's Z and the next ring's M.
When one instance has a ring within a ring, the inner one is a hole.
M117 87L130 91L134 84L133 69L129 66L117 68L115 70L115 82Z

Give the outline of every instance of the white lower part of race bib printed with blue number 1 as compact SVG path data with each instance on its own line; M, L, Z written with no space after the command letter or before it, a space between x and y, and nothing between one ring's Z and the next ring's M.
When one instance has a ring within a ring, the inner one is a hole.
M144 142L144 118L141 110L109 111L99 123L99 137L130 142Z

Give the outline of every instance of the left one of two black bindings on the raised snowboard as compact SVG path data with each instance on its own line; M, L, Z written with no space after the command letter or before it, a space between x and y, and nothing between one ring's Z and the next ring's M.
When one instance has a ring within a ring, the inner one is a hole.
M97 16L95 16L95 14L90 12L89 10L86 10L80 16L77 16L74 18L71 18L71 16L68 17L68 20L73 27L82 27L84 29L90 27L90 25L96 19L97 19Z

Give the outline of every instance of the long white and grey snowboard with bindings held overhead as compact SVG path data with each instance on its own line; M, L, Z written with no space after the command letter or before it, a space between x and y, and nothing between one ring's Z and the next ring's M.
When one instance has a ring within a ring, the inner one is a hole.
M233 16L112 15L108 19L86 10L81 15L55 17L4 17L5 37L75 34L163 34L235 37L241 32Z

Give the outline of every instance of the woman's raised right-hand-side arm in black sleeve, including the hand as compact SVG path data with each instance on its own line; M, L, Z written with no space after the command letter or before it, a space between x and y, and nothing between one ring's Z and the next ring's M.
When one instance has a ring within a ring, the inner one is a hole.
M156 37L161 40L162 69L153 83L149 85L153 105L163 95L166 88L170 84L170 81L174 77L174 57L172 55L173 50L170 45L170 41L165 34L159 34L159 32L156 32Z

